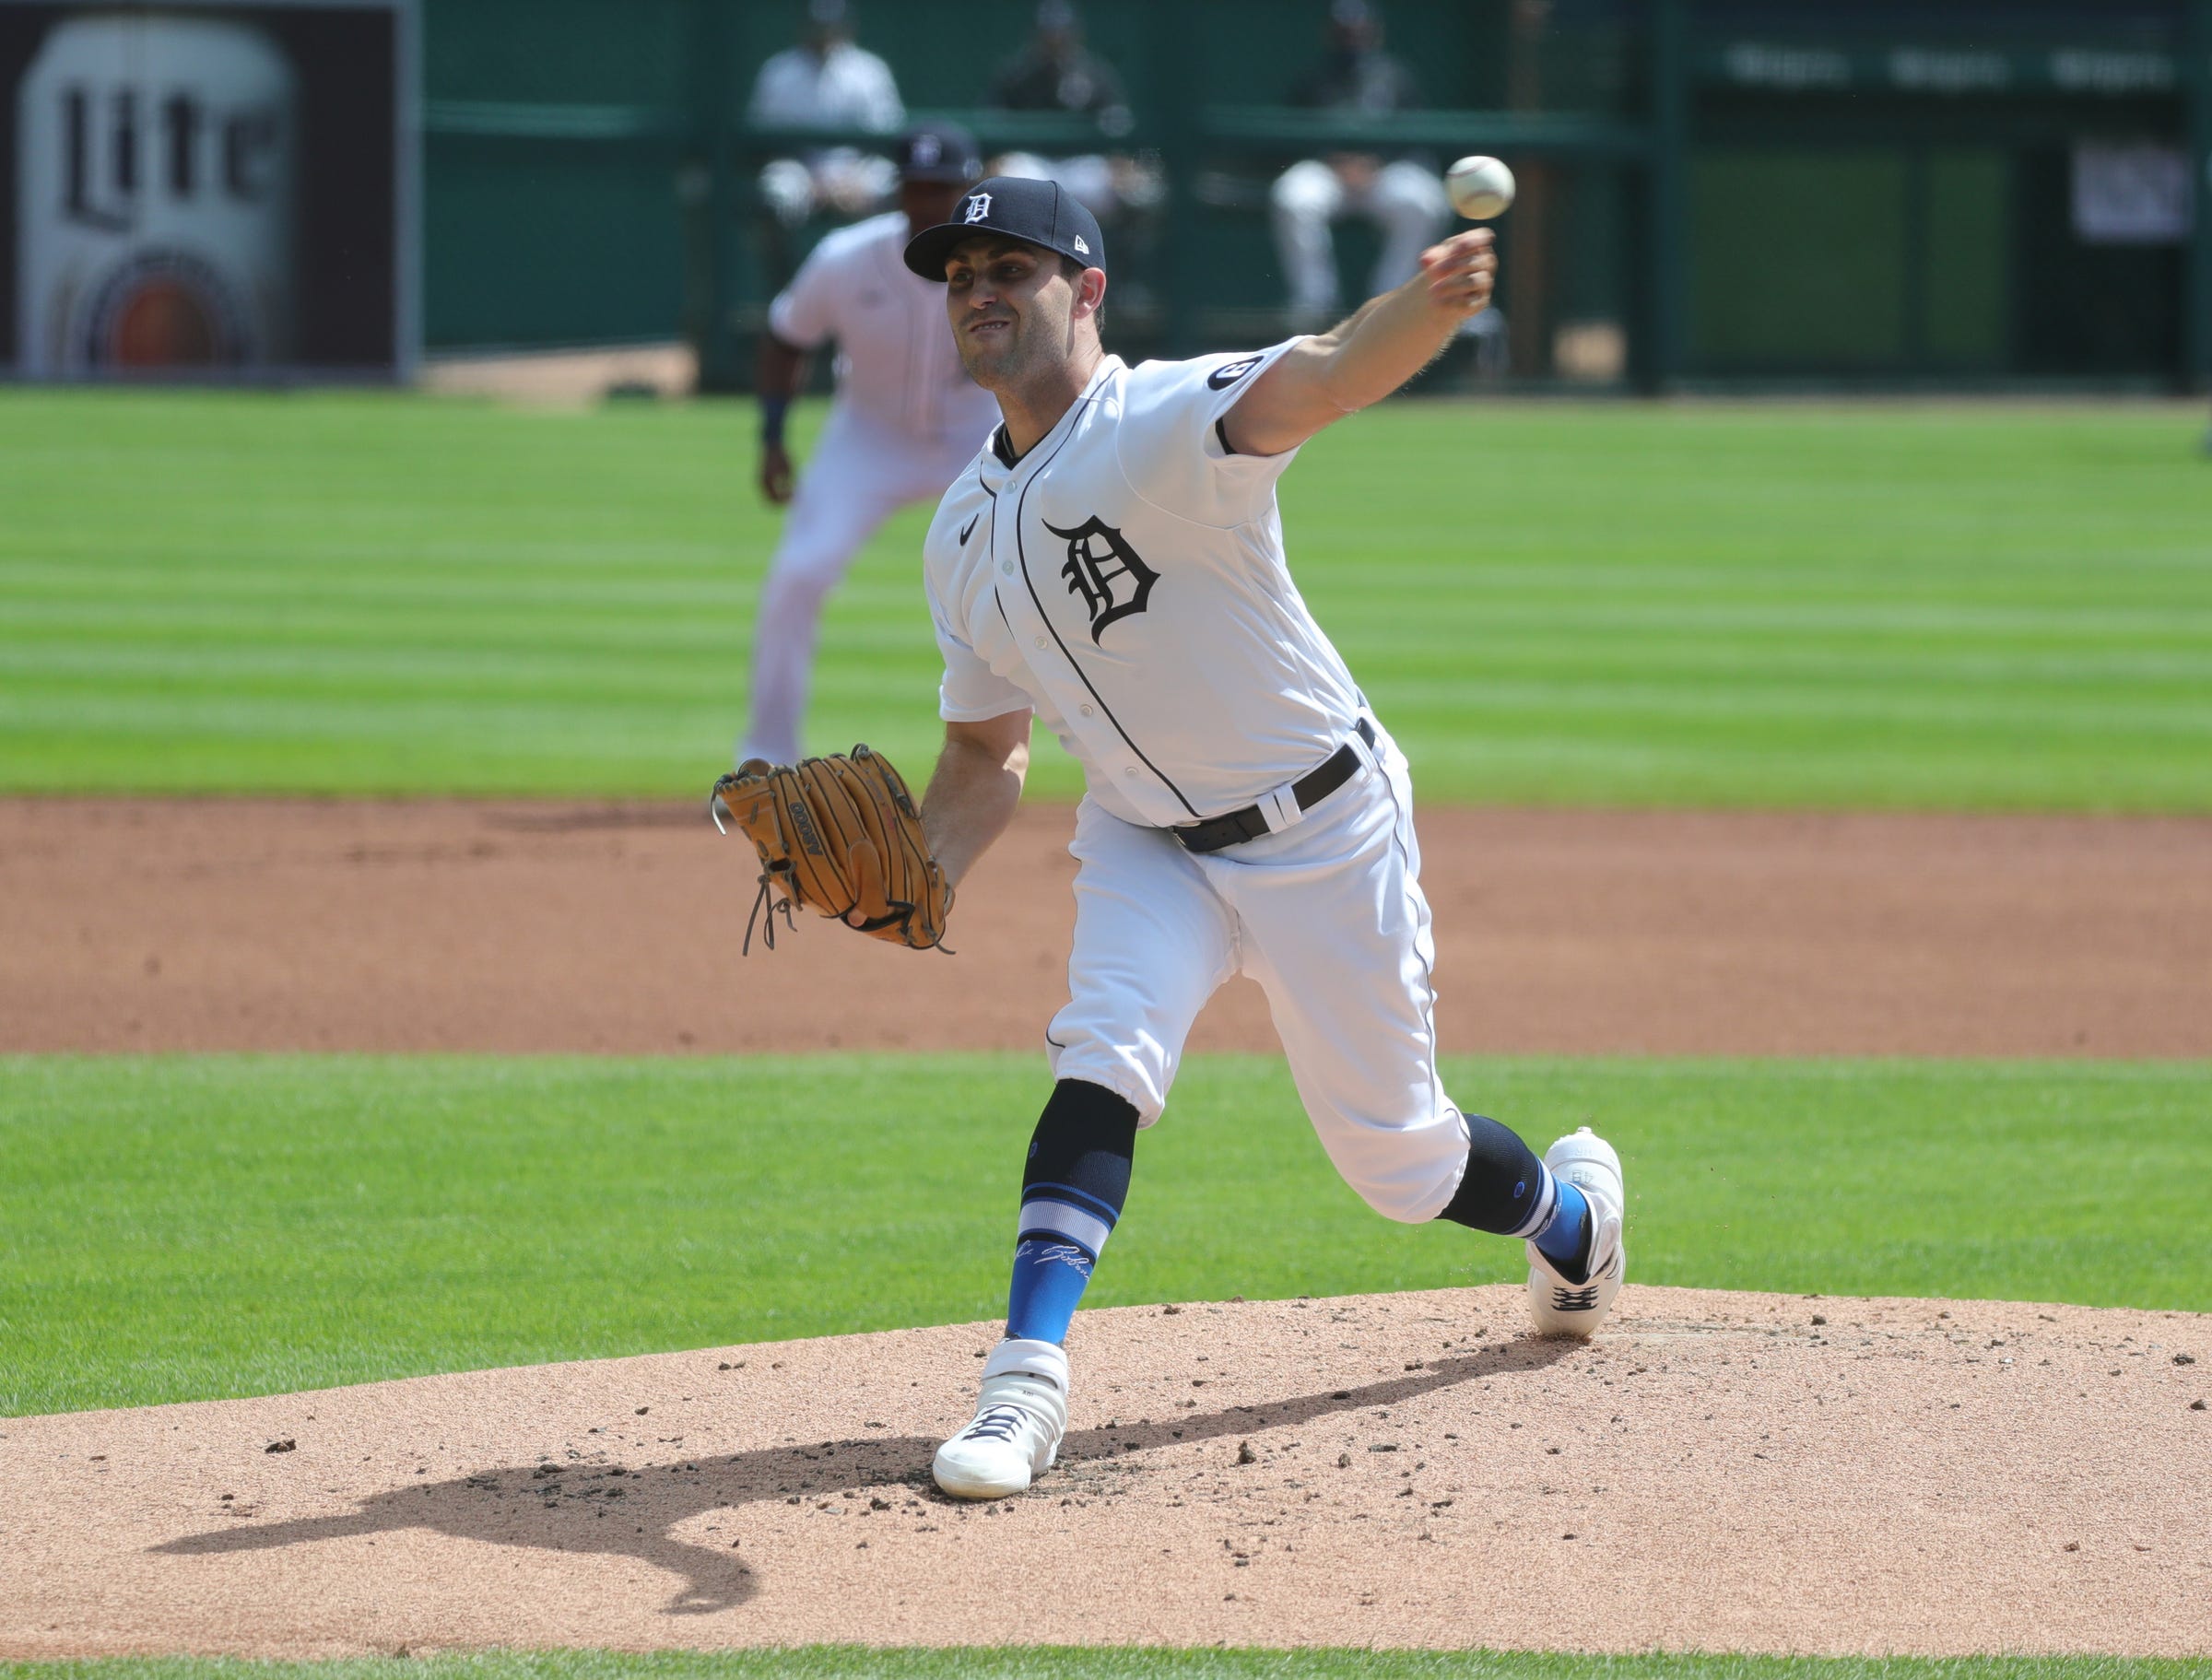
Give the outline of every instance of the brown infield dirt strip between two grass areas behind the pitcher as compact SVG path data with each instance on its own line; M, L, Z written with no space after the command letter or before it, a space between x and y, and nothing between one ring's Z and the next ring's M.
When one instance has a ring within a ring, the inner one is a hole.
M958 957L801 924L690 807L0 800L0 1050L964 1050L1066 997L1071 816ZM1420 813L1447 1050L2212 1054L2212 820ZM1237 981L1199 1050L1274 1052Z

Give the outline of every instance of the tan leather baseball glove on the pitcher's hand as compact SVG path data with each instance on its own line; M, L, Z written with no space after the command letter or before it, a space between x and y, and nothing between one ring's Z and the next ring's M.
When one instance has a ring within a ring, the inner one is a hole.
M763 909L774 951L776 911L792 926L794 906L838 920L858 913L858 931L876 939L945 948L953 889L929 855L914 794L883 754L854 747L796 765L748 758L714 783L708 813L717 829L723 811L761 853L745 951Z

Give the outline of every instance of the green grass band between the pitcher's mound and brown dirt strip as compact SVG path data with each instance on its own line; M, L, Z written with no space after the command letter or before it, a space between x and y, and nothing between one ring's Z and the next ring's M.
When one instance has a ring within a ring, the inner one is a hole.
M1639 1282L2212 1309L2205 1063L1455 1061L1601 1123ZM1033 1057L0 1061L0 1413L1004 1311ZM865 1245L869 1264L852 1253ZM1274 1061L1194 1059L1093 1306L1431 1289Z

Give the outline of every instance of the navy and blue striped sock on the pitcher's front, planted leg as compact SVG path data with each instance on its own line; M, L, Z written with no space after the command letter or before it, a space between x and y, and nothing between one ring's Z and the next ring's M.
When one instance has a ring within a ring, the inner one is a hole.
M1104 1085L1062 1079L1053 1088L1022 1167L1022 1218L1006 1289L1006 1335L1064 1342L1128 1200L1137 1110Z

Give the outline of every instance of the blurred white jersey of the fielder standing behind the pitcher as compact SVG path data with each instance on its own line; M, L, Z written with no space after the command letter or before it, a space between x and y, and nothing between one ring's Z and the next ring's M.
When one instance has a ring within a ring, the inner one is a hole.
M838 402L927 442L982 438L998 402L960 365L945 287L907 267L907 217L891 210L827 234L768 305L787 345L836 340Z

